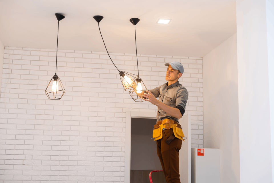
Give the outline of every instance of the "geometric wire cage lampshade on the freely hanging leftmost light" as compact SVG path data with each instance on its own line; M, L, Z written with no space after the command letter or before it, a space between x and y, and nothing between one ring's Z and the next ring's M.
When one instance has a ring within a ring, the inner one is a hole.
M51 100L60 100L65 92L66 90L60 78L54 75L45 90L47 97Z

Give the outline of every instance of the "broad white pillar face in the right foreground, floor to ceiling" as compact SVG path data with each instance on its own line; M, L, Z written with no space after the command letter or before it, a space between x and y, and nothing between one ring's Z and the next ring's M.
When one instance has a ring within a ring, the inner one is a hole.
M240 180L272 182L266 1L236 4Z

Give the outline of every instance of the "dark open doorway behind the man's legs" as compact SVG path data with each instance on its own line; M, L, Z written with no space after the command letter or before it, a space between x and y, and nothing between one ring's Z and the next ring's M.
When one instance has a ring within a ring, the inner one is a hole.
M152 170L162 170L152 138L154 118L131 118L130 183L149 183ZM153 173L152 180L166 183L164 173Z

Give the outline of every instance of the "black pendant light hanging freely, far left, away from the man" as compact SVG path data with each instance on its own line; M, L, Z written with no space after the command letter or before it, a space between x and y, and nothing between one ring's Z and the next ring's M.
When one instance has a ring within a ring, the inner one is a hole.
M64 19L65 16L62 15L61 13L55 13L55 16L58 20L55 75L49 81L49 84L48 84L48 86L45 90L45 93L46 93L47 97L51 100L60 100L62 98L62 96L64 95L64 93L65 93L65 88L64 88L60 78L58 77L58 75L56 75L56 71L57 71L57 51L58 51L59 21Z

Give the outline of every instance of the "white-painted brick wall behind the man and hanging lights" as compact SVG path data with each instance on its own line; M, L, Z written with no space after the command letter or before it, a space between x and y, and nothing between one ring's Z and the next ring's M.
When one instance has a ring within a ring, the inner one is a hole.
M55 74L55 55L51 49L5 47L0 183L123 182L125 112L156 112L156 107L134 102L108 55L93 51L59 50L57 75L66 92L61 100L49 100L45 89ZM137 74L134 54L110 55L119 69ZM165 62L183 64L179 81L189 92L185 114L191 113L192 147L203 148L202 58L139 55L138 59L148 89L166 82Z

